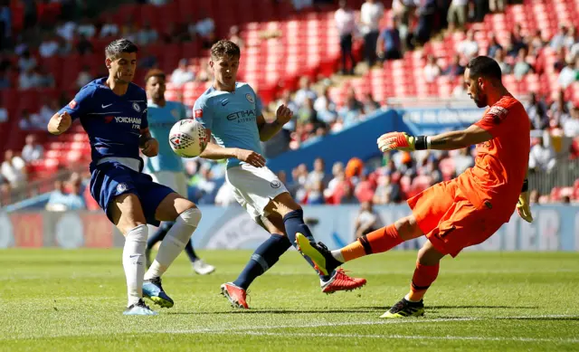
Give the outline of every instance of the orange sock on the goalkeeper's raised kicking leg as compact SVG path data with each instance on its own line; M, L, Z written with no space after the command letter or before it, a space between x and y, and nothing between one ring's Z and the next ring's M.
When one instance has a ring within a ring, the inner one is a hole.
M396 226L391 224L358 238L356 242L342 248L340 253L344 262L349 262L367 254L389 251L400 243L403 243L403 240L398 235Z

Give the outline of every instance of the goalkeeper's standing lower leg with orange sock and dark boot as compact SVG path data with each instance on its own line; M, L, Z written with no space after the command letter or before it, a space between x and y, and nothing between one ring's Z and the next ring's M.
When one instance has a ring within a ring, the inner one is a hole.
M432 243L424 243L422 249L418 252L418 260L413 274L413 281L410 284L410 292L380 318L394 319L421 317L424 315L422 298L426 290L431 287L432 282L436 280L443 256L444 254L436 250Z

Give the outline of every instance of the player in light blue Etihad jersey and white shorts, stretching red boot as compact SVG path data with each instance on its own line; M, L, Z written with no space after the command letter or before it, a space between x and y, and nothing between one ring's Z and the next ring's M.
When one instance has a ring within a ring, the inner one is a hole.
M278 133L291 119L291 110L281 105L276 112L277 119L270 123L265 121L261 102L252 87L236 81L240 56L235 43L219 41L214 44L209 62L214 71L214 84L195 101L194 116L217 142L209 143L201 157L227 158L225 176L233 186L235 198L271 233L271 237L253 252L237 280L221 286L223 295L233 307L247 309L246 290L252 281L278 262L291 245L297 247L297 233L312 241L313 236L304 224L301 207L261 157L260 141ZM315 267L307 256L304 257ZM322 291L326 293L365 285L365 279L350 278L341 270L318 271L318 274Z

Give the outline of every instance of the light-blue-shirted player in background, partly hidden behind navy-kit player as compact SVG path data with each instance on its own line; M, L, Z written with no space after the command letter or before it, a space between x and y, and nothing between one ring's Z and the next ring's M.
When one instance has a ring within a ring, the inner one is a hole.
M153 69L145 77L147 90L147 120L151 137L159 141L157 157L147 157L145 172L153 177L153 181L174 189L179 195L187 196L185 168L181 157L178 157L169 145L169 132L176 121L186 119L185 106L177 101L165 100L166 90L165 72ZM156 233L147 241L147 264L150 262L151 249L155 244L163 241L166 233L174 223L165 222L159 226ZM193 264L193 270L206 275L214 272L213 265L209 265L197 257L191 240L185 245L185 253Z

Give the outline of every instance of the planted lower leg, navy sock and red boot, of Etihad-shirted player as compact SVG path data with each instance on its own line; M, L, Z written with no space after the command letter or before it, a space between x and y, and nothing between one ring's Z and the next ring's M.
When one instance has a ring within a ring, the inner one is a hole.
M221 293L229 300L234 308L248 309L246 290L252 282L280 259L281 254L291 247L288 237L273 233L264 243L253 252L252 258L237 280L223 283Z

